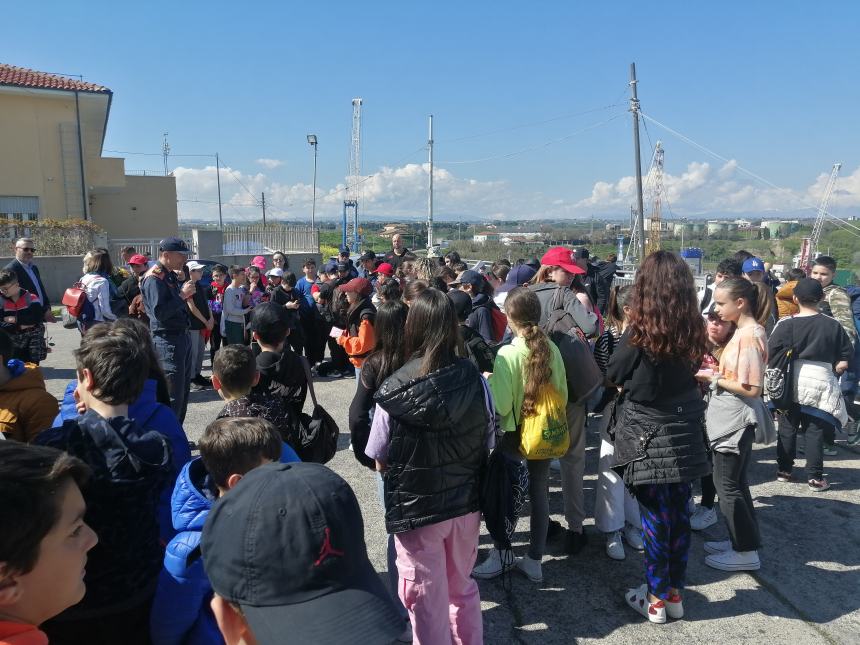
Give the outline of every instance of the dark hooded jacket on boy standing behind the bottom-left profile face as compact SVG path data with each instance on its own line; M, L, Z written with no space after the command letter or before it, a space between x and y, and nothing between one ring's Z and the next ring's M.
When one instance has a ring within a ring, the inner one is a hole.
M93 469L84 519L99 536L89 552L84 599L55 620L115 614L154 592L164 555L158 506L172 470L167 439L132 419L92 410L46 430L36 443L64 450Z

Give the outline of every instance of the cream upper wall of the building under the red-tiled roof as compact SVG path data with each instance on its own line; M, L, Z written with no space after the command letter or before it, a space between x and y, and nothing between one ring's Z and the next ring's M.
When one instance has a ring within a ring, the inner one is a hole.
M38 197L41 219L66 219L59 128L63 122L75 122L72 94L69 98L0 94L0 195Z

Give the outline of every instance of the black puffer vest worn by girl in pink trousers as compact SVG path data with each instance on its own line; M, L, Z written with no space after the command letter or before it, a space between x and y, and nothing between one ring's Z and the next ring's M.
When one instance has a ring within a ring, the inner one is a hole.
M420 359L376 393L390 417L385 528L400 533L478 510L489 423L478 369L457 359L417 377Z

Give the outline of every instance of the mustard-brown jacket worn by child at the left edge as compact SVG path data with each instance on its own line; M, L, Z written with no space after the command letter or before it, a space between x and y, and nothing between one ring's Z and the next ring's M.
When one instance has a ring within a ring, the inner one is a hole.
M7 439L31 442L53 425L57 409L57 399L45 391L42 370L32 363L0 386L0 432Z

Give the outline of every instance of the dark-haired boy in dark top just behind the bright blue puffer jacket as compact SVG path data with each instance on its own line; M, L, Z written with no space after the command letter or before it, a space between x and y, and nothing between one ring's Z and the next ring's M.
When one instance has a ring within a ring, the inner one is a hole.
M294 449L298 447L296 424L289 408L280 397L268 392L254 392L260 380L257 362L250 347L228 345L215 354L212 366L212 387L218 390L226 404L218 413L224 417L259 417L277 428L284 440L283 461L298 461Z

